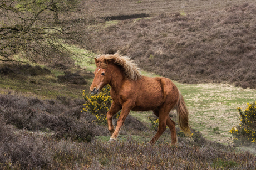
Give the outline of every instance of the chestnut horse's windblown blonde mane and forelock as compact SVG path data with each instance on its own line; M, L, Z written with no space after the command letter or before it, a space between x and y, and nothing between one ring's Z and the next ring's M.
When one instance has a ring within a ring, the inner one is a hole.
M137 67L137 64L135 64L133 60L130 60L129 57L122 56L119 51L113 55L101 55L99 58L97 58L99 63L96 65L100 66L101 68L107 68L107 64L103 62L105 59L108 62L120 65L124 71L125 78L135 81L141 78L140 68Z

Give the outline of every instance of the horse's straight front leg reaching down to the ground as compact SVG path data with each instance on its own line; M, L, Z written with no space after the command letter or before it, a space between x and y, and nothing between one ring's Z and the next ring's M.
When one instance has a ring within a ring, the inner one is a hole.
M121 130L121 127L122 127L122 125L124 125L125 119L128 116L132 107L134 107L134 101L127 101L122 105L122 111L119 116L119 119L117 120L116 130L110 137L110 140L109 140L110 142L116 141L116 139L119 135L119 132Z

